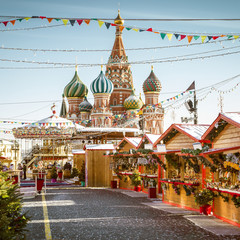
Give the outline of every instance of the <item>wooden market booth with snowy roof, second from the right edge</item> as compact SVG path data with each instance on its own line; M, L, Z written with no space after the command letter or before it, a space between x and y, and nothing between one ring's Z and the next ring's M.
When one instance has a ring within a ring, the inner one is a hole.
M182 149L192 150L201 145L201 136L209 125L172 124L158 139L157 154L164 156L166 171L158 179L162 187L163 202L199 211L193 192L201 188L205 169L194 158L181 154ZM160 144L164 143L164 144Z

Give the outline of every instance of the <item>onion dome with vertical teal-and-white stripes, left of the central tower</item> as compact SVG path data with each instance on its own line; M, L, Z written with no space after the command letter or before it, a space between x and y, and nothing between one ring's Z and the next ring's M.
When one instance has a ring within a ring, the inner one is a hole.
M103 70L99 76L91 83L90 89L93 94L96 93L109 93L111 94L113 91L112 82L104 75Z

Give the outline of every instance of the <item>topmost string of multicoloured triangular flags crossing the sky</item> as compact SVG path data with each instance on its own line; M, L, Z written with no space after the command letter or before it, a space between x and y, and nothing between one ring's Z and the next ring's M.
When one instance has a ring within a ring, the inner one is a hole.
M82 23L85 23L87 25L90 24L91 21L98 22L99 27L101 28L103 25L106 26L107 29L110 27L119 27L121 31L126 29L127 31L133 30L135 32L152 32L155 34L159 34L161 39L168 39L169 41L172 40L172 37L174 36L176 40L182 41L183 39L187 39L188 43L191 43L192 40L198 40L200 39L202 43L210 40L216 40L219 38L227 38L227 39L238 39L240 34L233 35L233 34L218 34L218 35L206 35L206 34L188 34L188 33L180 33L180 32L171 32L171 31L155 31L152 27L150 28L142 28L142 27L132 27L132 26L123 26L123 25L118 25L115 23L110 23L110 22L105 22L103 20L99 19L77 19L77 18L49 18L45 16L33 16L33 17L24 17L24 18L17 18L14 20L10 21L1 21L0 24L3 24L5 27L7 27L8 24L12 24L13 26L15 25L16 22L22 22L23 20L29 21L29 19L42 19L42 20L47 20L49 23L51 23L53 20L54 21L62 21L63 24L66 26L67 24L71 24L71 26L74 26L75 24L78 24L79 26L82 25Z

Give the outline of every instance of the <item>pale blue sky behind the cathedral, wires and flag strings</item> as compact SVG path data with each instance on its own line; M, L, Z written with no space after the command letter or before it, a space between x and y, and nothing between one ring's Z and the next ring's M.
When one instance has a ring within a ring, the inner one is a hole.
M48 16L48 17L86 17L86 18L115 18L119 8L123 18L239 18L240 2L236 0L222 1L49 1L49 0L8 0L1 1L0 15L17 16ZM51 23L55 24L54 22ZM28 22L9 25L7 28L0 25L0 46L42 49L109 49L111 50L115 29L109 30L97 22L89 26L77 24L74 27L62 26L43 28L28 31L5 31L6 29L30 28L41 25L51 25L46 20L32 19ZM158 30L192 33L238 33L239 22L141 22L125 21L126 25L136 27L152 27ZM171 46L187 43L173 39L161 40L158 34L148 32L137 33L123 31L125 48L147 48ZM199 40L197 41L199 42ZM223 47L238 46L239 40L220 44L204 44L201 46L170 48L148 51L127 51L129 61L151 60L162 57L178 56L189 53L218 50ZM109 52L104 53L40 53L17 52L0 50L1 59L19 59L29 61L75 62L78 63L106 63ZM239 54L217 57L206 60L193 60L178 63L154 64L154 72L162 83L160 100L170 98L174 94L184 91L193 80L197 89L217 83L221 80L239 74ZM23 63L0 61L0 67L27 67L35 66ZM142 92L142 83L148 77L151 64L132 65L133 81L136 94ZM79 68L80 79L90 89L90 83L98 76L100 67ZM51 114L50 105L55 100L61 100L65 85L72 79L72 69L40 69L40 70L3 70L0 69L1 95L0 120L22 119L37 120ZM222 90L230 89L239 82L239 79L227 84ZM239 111L239 88L224 95L224 111ZM169 94L167 94L169 93ZM142 94L143 95L143 94ZM93 97L89 94L89 101ZM39 102L34 104L4 104L15 102ZM61 102L56 102L57 111L60 111ZM210 94L206 100L199 102L199 122L211 123L219 113L218 94ZM165 128L173 121L180 122L181 117L189 116L185 107L172 109L166 113Z

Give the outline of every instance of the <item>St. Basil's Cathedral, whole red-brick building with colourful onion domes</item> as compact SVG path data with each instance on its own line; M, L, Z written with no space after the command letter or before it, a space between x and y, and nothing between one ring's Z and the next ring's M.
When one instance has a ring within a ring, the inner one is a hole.
M90 85L94 96L93 106L87 100L88 88L80 80L76 67L73 79L63 91L60 117L84 123L87 127L141 128L148 133L162 134L164 109L158 101L161 83L152 67L150 75L143 83L145 103L141 95L135 95L131 65L128 63L122 40L121 26L124 20L120 13L114 23L115 42L105 74L101 67L100 74Z

